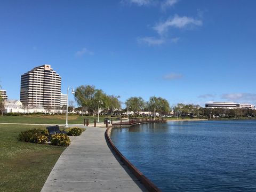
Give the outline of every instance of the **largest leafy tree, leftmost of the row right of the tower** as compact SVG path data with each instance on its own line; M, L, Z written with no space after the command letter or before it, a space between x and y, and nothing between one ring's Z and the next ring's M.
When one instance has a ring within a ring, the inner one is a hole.
M81 107L86 107L88 112L95 116L98 111L98 103L104 100L105 93L102 90L95 89L92 85L81 85L76 88L75 100ZM102 107L102 106L101 106Z

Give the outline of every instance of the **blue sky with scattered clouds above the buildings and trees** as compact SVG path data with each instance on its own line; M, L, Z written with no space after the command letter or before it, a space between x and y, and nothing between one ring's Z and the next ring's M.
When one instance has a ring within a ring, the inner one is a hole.
M2 1L0 84L49 64L108 94L255 104L256 1Z

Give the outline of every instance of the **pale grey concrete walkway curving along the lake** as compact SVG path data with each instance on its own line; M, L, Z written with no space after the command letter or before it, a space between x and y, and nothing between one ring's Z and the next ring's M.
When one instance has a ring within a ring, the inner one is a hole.
M61 154L47 178L45 191L147 191L105 140L106 128L86 127Z

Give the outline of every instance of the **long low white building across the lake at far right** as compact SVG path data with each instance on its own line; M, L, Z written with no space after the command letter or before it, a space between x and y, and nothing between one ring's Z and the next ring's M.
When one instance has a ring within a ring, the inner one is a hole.
M255 105L251 105L249 103L235 103L235 102L213 102L213 103L205 103L206 108L227 108L227 109L255 109Z

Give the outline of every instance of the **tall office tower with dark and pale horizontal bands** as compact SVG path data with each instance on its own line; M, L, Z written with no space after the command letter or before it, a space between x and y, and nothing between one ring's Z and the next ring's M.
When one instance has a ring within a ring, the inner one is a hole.
M21 75L20 101L27 107L60 107L61 77L50 65L35 67Z

